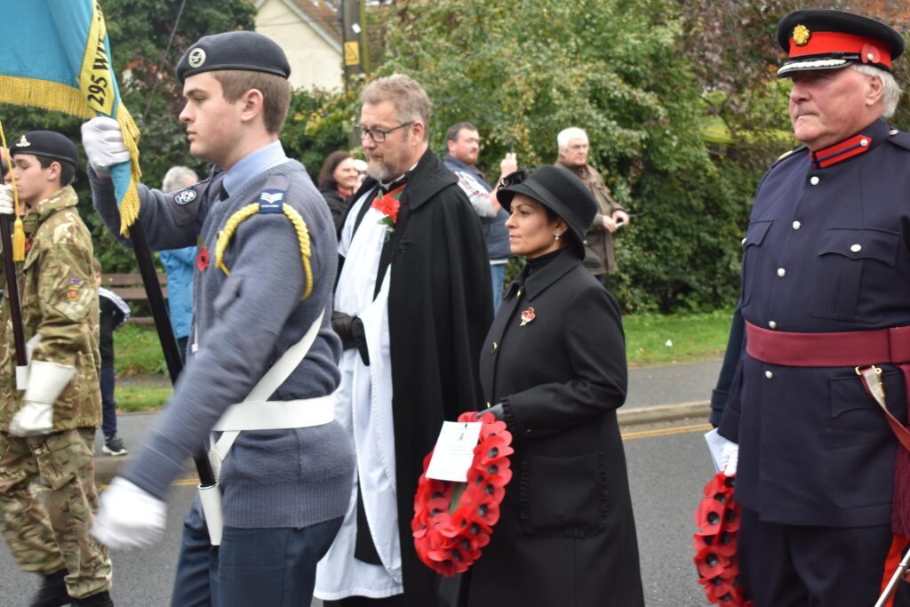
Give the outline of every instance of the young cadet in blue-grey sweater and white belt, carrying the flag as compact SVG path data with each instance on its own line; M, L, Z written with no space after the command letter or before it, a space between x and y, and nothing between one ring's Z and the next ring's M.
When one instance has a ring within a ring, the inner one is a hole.
M180 120L190 152L216 168L171 194L139 187L139 221L152 247L198 240L207 255L197 263L187 367L147 447L102 496L96 537L113 548L157 541L167 487L187 458L213 428L243 430L221 466L219 549L209 545L217 540L198 501L187 515L175 605L309 604L316 562L348 507L353 450L331 400L341 352L329 322L335 229L306 170L278 140L289 71L281 48L252 32L190 46L177 64L187 99ZM116 122L94 118L83 143L96 208L116 234L104 175L124 159L122 134ZM308 338L306 354L288 359ZM282 367L287 379L263 378Z

